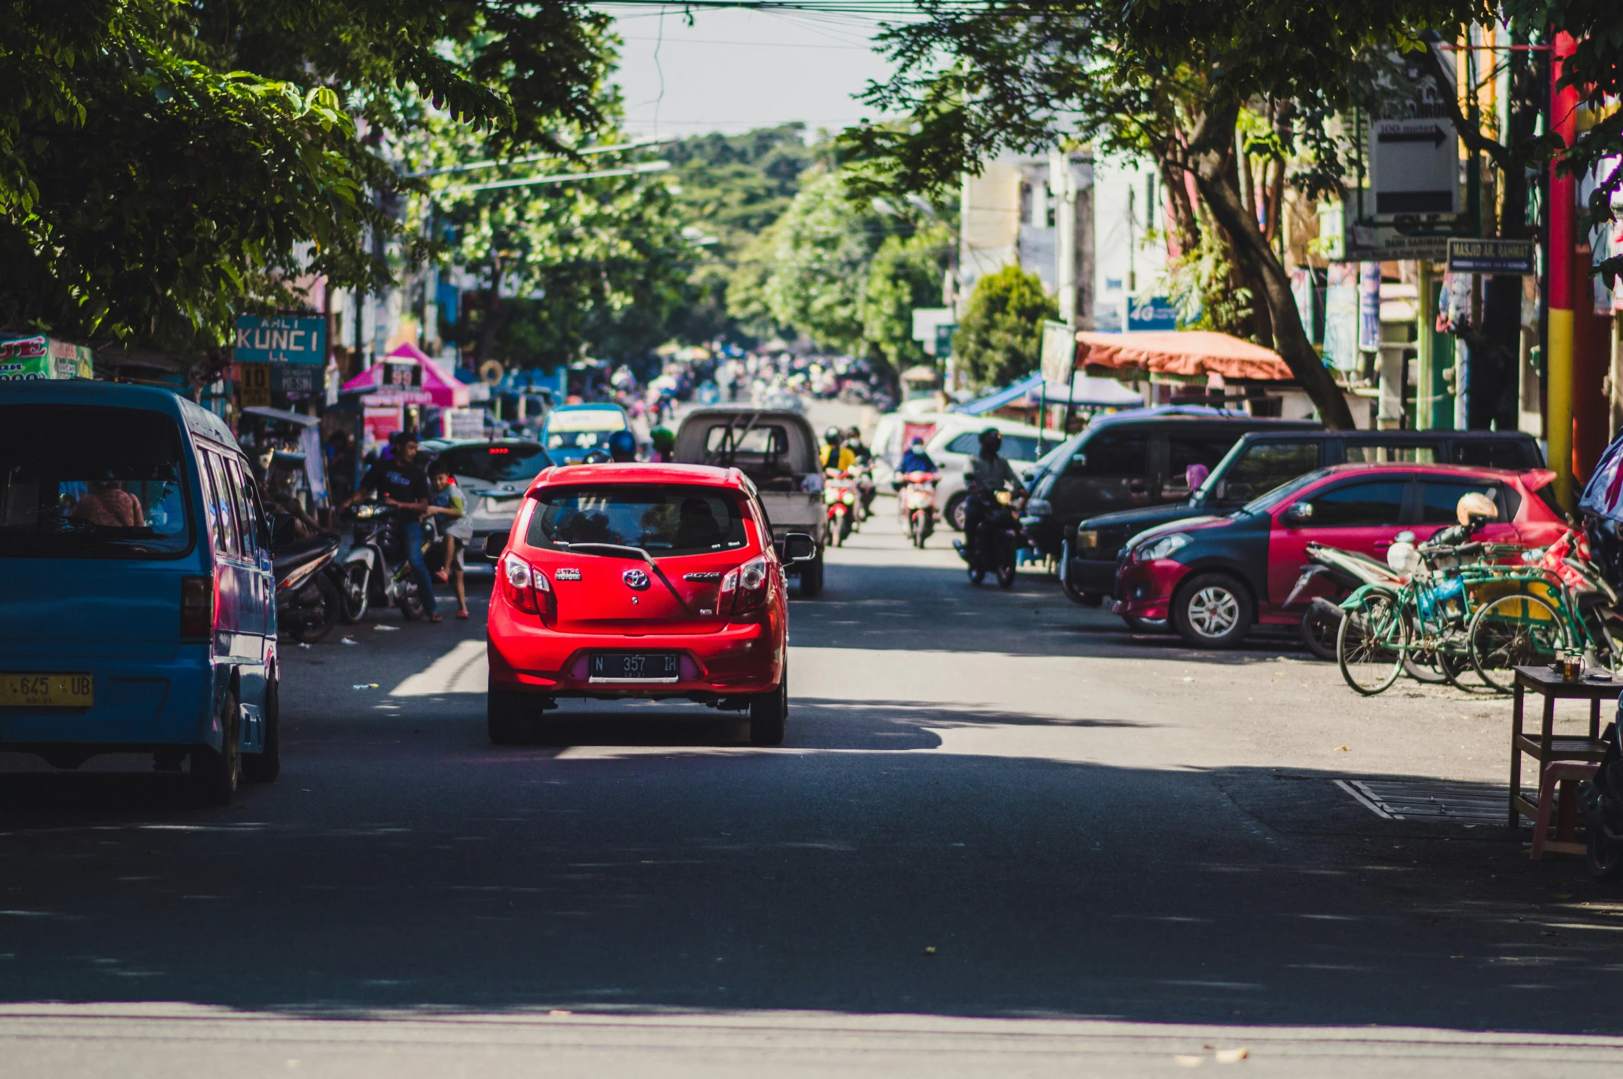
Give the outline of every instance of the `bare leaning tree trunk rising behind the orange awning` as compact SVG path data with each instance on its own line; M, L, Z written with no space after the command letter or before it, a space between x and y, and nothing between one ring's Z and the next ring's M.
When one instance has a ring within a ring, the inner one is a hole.
M1261 299L1268 305L1272 325L1274 350L1290 367L1290 373L1297 376L1308 399L1318 407L1324 427L1352 430L1352 411L1347 407L1347 399L1308 341L1307 331L1302 329L1302 313L1290 292L1290 277L1285 276L1284 264L1263 239L1256 219L1246 216L1240 193L1229 180L1238 112L1238 102L1227 102L1216 105L1201 118L1199 128L1190 141L1195 183L1212 217L1233 242L1235 261L1245 268L1248 277L1261 286Z

